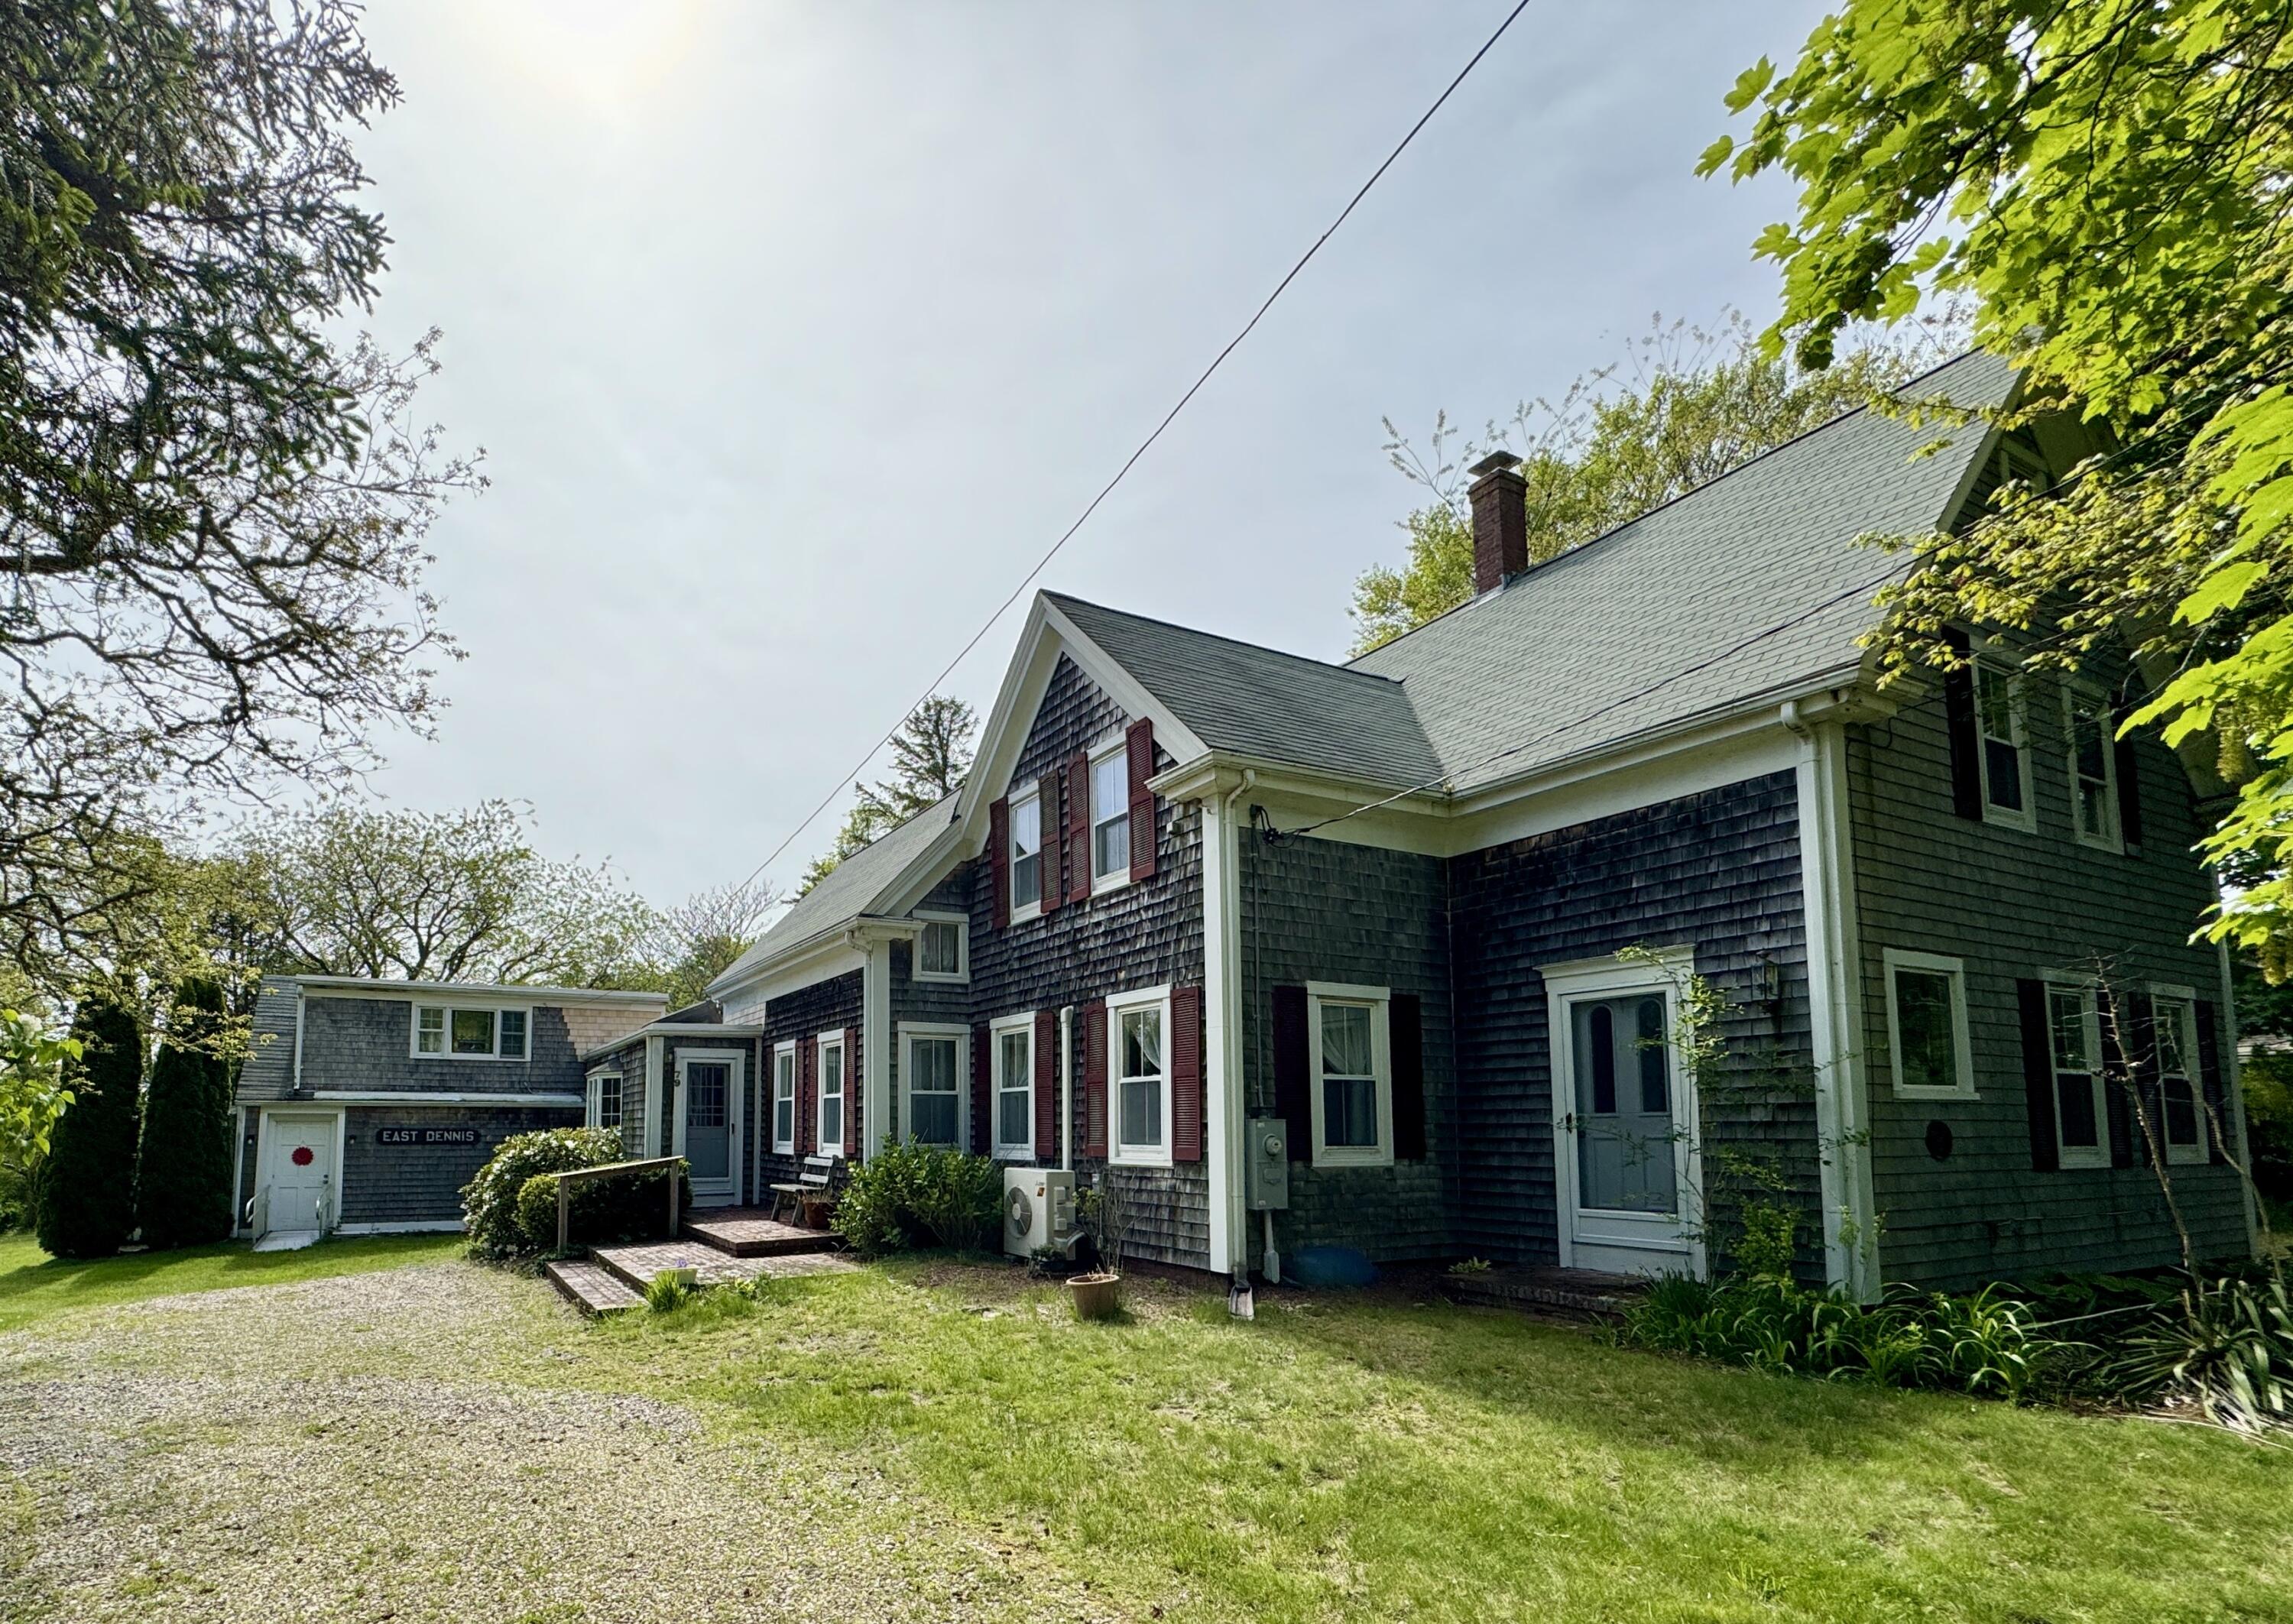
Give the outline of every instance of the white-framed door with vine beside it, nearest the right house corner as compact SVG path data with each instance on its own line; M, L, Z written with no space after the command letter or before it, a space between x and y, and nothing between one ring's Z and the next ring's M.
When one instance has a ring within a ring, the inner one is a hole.
M1701 1273L1701 1156L1678 1007L1690 966L1545 970L1559 1255L1568 1268Z

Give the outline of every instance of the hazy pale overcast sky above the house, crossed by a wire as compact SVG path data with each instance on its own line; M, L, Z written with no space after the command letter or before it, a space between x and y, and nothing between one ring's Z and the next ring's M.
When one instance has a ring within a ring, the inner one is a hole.
M445 328L424 415L493 479L431 537L449 709L376 789L530 801L663 904L748 874L1507 9L376 5L374 326ZM1692 165L1818 14L1532 5L1041 585L1341 656L1412 505L1380 415L1772 312L1789 197ZM1020 617L949 684L981 713Z

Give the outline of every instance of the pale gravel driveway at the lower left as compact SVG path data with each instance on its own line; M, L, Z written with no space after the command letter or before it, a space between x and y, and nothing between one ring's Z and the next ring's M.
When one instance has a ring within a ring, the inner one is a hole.
M864 1461L550 1390L582 1335L468 1264L0 1335L0 1619L1091 1613Z

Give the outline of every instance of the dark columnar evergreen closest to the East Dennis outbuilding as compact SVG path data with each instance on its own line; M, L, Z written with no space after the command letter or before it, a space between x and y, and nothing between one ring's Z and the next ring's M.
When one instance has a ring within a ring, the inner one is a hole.
M135 1216L144 1246L204 1246L232 1234L232 1083L216 1053L222 989L186 982L144 1092Z

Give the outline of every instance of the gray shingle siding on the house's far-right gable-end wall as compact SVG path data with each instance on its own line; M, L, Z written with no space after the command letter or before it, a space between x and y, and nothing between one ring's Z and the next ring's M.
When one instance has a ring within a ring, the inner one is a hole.
M2077 844L2061 697L2025 679L2038 828L1977 823L1951 810L1940 693L1848 732L1848 798L1864 957L1871 1076L1871 1181L1889 1280L1974 1285L2052 1268L2178 1262L2151 1168L2034 1172L2016 979L2100 957L2126 982L2190 986L2220 1005L2213 947L2192 947L2213 901L2190 856L2199 823L2171 750L2139 739L2142 853ZM1965 959L1972 1101L1896 1099L1883 952ZM1928 1122L1951 1129L1949 1161L1926 1154ZM2171 1168L2201 1257L2247 1250L2231 1168Z

